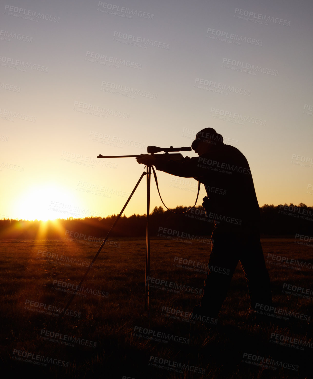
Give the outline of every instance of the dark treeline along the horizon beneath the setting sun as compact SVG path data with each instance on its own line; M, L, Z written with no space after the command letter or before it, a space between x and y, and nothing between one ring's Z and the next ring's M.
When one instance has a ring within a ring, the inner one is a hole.
M176 207L175 212L183 212L186 207ZM313 207L299 205L263 205L261 211L262 236L313 235ZM105 218L68 218L48 221L0 220L0 239L63 239L64 237L93 240L104 237L110 230L116 215ZM155 207L150 214L151 236L163 234L208 236L214 223L207 219L200 205L188 213L174 214L162 207ZM140 237L146 234L146 215L122 216L110 234L112 237Z

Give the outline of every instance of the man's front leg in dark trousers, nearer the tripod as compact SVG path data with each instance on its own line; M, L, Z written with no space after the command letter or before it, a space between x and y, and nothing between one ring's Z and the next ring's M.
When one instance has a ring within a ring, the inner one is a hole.
M216 317L226 298L231 278L239 262L238 242L235 233L214 229L209 272L204 281L201 307Z

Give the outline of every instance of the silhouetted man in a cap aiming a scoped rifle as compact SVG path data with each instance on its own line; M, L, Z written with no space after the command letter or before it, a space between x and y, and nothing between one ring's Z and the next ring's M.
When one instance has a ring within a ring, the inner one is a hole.
M269 274L260 243L260 208L247 159L236 147L223 144L223 137L213 128L198 132L192 149L199 157L168 161L164 155L148 154L137 158L138 163L154 165L168 174L193 177L206 188L208 197L203 206L215 222L209 258L209 267L214 269L208 272L201 304L193 308L192 315L218 315L239 261L251 308L255 310L256 303L271 305ZM229 270L229 275L223 269Z

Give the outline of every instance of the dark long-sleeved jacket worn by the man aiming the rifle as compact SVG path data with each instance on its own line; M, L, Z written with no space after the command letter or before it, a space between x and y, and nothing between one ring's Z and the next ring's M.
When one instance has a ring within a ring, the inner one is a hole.
M208 194L207 216L230 229L258 229L260 208L252 174L245 156L236 147L215 146L200 157L168 161L164 155L156 169L168 174L192 177L203 183Z

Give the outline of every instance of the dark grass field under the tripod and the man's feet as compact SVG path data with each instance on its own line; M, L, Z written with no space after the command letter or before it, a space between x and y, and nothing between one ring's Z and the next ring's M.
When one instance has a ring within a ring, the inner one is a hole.
M310 299L282 290L283 283L312 287L312 270L282 267L275 264L277 260L268 260L267 255L312 263L313 249L291 239L261 242L274 305L311 315ZM190 270L192 263L181 263L181 267L176 264L182 258L195 262L194 265L200 262L200 267L206 265L211 251L207 243L151 240L151 277L182 286L178 293L164 286L151 288L150 327L144 307L145 239L112 241L111 246L102 250L83 283L87 292L75 296L69 307L72 315L41 313L48 312L52 305L64 308L70 294L62 291L62 285L75 287L79 283L98 246L70 240L1 241L1 359L12 374L31 373L33 378L120 379L313 377L311 321L290 317L288 321L257 322L248 312L247 286L240 265L214 323L192 324L179 317L161 315L162 307L190 312L200 302L201 295L197 292L203 288L206 274ZM149 333L154 339L147 337ZM304 350L296 349L296 342L278 345L271 338L273 333L310 345ZM68 336L76 338L74 342L70 339L74 346L66 345ZM253 358L243 359L244 353L279 360L286 367L274 370L275 367L256 366ZM25 354L27 361L22 361ZM46 366L35 364L42 362L42 357L49 357ZM162 359L171 362L164 363ZM193 366L201 368L195 369L201 372L193 372ZM179 373L166 367L184 370Z

